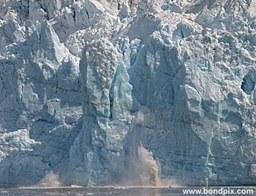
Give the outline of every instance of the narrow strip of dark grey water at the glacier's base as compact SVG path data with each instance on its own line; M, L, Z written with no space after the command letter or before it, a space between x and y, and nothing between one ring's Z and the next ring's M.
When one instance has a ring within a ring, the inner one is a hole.
M198 187L197 187L198 188ZM197 189L195 187L195 189ZM184 194L184 188L50 188L50 189L0 189L0 196L46 196L46 195L60 195L60 196L181 196L181 195L213 195L213 194ZM229 189L229 188L228 188ZM242 188L234 188L242 189ZM244 189L249 189L244 187ZM244 194L248 196L256 195L255 187L253 194ZM223 194L222 194L223 195ZM234 194L226 194L234 195ZM238 195L238 194L235 194ZM242 195L242 194L241 194Z

